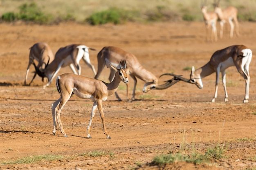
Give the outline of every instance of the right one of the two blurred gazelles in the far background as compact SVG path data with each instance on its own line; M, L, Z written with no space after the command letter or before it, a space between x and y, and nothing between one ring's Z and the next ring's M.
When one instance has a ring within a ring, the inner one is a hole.
M226 22L229 22L230 25L230 34L229 38L233 37L234 33L234 23L232 20L234 20L236 24L236 35L239 36L239 26L238 26L238 19L237 19L237 13L238 10L235 7L227 7L226 9L221 9L219 6L220 0L218 2L214 3L214 11L217 13L218 18L220 19L220 39L223 37L223 27Z

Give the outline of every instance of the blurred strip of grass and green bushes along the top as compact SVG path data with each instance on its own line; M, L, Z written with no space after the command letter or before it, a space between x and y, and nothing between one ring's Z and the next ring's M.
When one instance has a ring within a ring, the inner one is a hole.
M206 2L213 11L213 0ZM0 16L2 22L40 24L202 21L201 5L202 0L0 0ZM256 0L220 0L222 9L229 6L238 9L239 21L256 21Z

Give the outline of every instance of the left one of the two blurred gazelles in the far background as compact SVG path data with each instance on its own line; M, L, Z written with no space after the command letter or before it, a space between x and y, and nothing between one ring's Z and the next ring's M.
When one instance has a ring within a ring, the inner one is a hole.
M218 15L214 11L207 12L206 0L204 1L204 3L202 3L201 11L204 17L204 23L206 27L206 41L211 41L211 36L213 35L214 41L216 42L218 40L217 29L216 29ZM210 29L211 29L211 33L210 33Z

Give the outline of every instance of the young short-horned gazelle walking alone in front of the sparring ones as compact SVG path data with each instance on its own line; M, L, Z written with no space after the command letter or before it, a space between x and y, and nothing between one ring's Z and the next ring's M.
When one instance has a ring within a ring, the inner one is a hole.
M61 132L64 137L67 137L64 132L64 128L61 123L61 109L67 103L67 101L72 97L72 95L76 95L82 99L92 99L92 114L90 118L90 122L87 128L87 137L91 138L90 135L90 126L92 124L92 119L96 113L96 109L98 107L99 113L101 116L101 121L103 124L104 134L110 139L108 132L105 126L105 118L102 109L102 101L106 101L108 96L112 95L117 91L117 88L120 82L128 83L127 73L126 73L126 62L124 62L124 67L121 66L121 62L119 64L119 68L115 68L111 64L108 64L110 68L115 71L115 78L111 83L105 83L101 80L91 79L88 77L83 77L81 75L75 75L70 73L65 73L60 75L56 79L56 87L58 92L61 94L61 97L56 100L52 104L52 117L53 117L53 134L56 133L56 117L58 119L58 124L60 126Z

